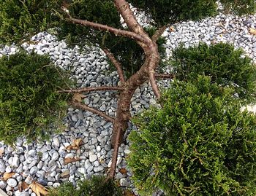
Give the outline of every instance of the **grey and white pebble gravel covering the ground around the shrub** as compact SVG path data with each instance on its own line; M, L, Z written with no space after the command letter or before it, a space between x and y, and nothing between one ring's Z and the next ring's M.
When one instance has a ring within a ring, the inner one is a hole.
M140 17L140 21L146 23L147 19ZM167 39L166 52L170 56L171 50L181 42L186 47L199 42L231 42L236 48L242 47L246 55L256 62L256 36L249 34L249 28L256 28L256 15L236 17L220 14L199 22L178 23L173 26L174 31L168 28L163 34ZM69 48L64 41L58 42L55 36L45 32L37 34L31 41L34 44L25 43L23 47L28 51L35 50L40 55L48 54L57 66L72 71L72 76L77 79L77 87L118 85L118 75L116 71L108 72L109 65L102 50L92 48L90 52L80 52L78 47ZM0 50L0 57L15 52L14 45L5 46ZM170 68L167 68L168 71ZM159 85L167 87L169 82L162 80ZM114 117L117 107L115 95L115 92L88 93L83 102ZM131 113L137 114L152 104L156 104L154 93L146 82L132 98ZM64 132L53 135L49 141L28 144L26 138L19 138L16 147L0 142L0 175L15 173L7 181L0 179L0 188L7 195L35 195L31 189L24 192L18 190L22 181L27 184L38 181L43 186L58 187L64 181L71 181L75 185L83 177L107 172L113 152L110 146L113 125L90 111L72 107L69 107L64 123L67 125ZM132 129L136 130L136 127L129 124L127 132ZM66 147L78 138L83 141L80 149L67 150ZM137 195L137 189L130 179L132 173L125 161L130 153L129 141L121 144L118 153L116 179L121 187L129 187ZM79 160L65 164L67 158ZM119 172L121 168L125 168L127 173Z

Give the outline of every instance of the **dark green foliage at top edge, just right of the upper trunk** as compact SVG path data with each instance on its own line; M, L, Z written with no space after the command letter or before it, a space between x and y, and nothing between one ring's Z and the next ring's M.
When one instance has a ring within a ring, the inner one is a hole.
M214 0L128 0L128 2L150 15L154 20L154 26L165 26L183 20L198 20L217 12L217 4Z

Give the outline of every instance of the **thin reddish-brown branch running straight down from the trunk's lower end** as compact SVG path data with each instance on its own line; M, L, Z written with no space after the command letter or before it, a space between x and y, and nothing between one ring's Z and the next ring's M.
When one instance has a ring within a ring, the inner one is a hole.
M117 133L116 133L116 141L114 145L114 151L112 155L112 162L110 166L110 173L109 173L109 178L113 179L116 173L116 162L117 162L117 156L118 156L118 147L120 143L120 136L121 136L121 128L118 128Z

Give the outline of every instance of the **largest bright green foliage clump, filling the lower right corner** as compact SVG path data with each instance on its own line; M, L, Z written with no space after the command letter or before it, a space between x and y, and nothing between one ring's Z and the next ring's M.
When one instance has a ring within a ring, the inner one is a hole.
M141 195L255 195L256 117L210 77L174 81L138 115L128 164Z

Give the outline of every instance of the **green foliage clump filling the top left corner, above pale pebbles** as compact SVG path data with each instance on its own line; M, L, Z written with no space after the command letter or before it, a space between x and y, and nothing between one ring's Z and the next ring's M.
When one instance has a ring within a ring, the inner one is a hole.
M45 31L56 20L52 9L57 0L1 0L0 44L23 42L39 31Z

